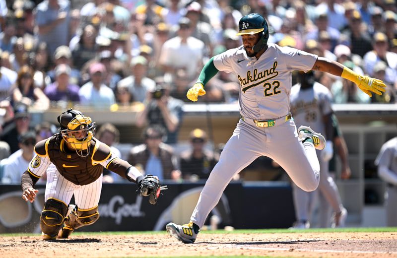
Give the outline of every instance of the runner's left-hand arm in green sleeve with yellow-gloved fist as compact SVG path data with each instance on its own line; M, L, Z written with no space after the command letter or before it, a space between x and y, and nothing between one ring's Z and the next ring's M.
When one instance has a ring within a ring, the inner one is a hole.
M192 88L188 90L186 96L191 101L197 101L199 96L205 95L204 85L213 77L219 70L216 69L214 65L214 57L212 57L205 65L202 67L199 79L193 85Z

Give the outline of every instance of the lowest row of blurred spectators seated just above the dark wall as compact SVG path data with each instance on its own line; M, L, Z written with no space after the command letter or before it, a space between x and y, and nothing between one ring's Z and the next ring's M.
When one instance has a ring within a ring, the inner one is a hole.
M30 114L27 106L17 104L13 123L4 128L0 141L0 182L3 184L20 184L23 172L35 156L34 146L58 132L58 128L47 122L30 127ZM126 160L143 174L152 174L161 181L196 182L205 180L218 162L222 147L210 149L207 134L202 129L194 129L189 134L189 146L180 153L166 144L166 129L160 125L148 126L142 133L142 144L132 146L127 154L117 148L120 131L112 124L100 126L96 138L111 147L112 152L126 156ZM223 145L222 145L223 146ZM183 173L182 173L183 171ZM128 182L116 173L104 168L103 182ZM235 178L236 180L239 177ZM46 182L46 175L39 183Z

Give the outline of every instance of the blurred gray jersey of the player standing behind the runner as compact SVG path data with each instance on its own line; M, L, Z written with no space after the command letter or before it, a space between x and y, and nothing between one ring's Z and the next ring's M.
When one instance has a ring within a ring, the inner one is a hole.
M295 84L291 89L290 101L297 126L309 126L325 135L323 116L332 112L332 95L326 86L315 82L313 87L301 89L300 84Z

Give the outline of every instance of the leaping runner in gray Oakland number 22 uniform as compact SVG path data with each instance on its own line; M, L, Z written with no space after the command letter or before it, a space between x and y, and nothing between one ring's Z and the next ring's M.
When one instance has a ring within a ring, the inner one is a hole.
M240 19L238 35L242 35L243 45L212 57L187 93L190 100L197 101L205 94L204 85L219 70L233 72L240 81L241 119L201 191L190 223L166 226L183 243L195 242L199 228L233 176L261 155L277 162L299 188L316 190L320 181L316 149L324 149L326 140L309 127L297 132L291 120L292 70L314 69L342 76L369 95L385 91L381 80L359 76L339 63L304 51L267 43L267 22L257 13Z

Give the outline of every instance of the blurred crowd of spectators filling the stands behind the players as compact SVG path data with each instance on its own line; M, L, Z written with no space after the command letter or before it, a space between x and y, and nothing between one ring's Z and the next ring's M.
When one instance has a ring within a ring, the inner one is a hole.
M142 170L159 171L160 178L205 178L219 151L203 148L204 131L192 131L191 149L178 157L167 144L178 142L186 92L201 67L242 44L238 21L251 12L268 21L268 42L387 84L382 96L369 97L346 79L315 72L334 103L395 103L396 0L0 0L0 159L23 172L34 143L56 133L46 123L32 130L29 109L117 111L142 103L136 117L136 126L145 127L142 145L129 161L149 164ZM236 103L240 86L233 74L218 72L206 92L199 103ZM98 138L112 146L119 132L103 127ZM191 173L195 162L202 171Z

